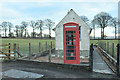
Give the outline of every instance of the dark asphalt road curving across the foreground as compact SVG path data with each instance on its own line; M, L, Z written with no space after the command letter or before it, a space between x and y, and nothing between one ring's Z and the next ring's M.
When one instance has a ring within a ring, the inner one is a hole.
M10 69L42 74L44 75L44 78L117 78L117 76L114 74L113 75L100 74L83 69L79 69L79 70L66 69L62 67L43 65L40 63L31 63L24 61L2 63L3 72Z

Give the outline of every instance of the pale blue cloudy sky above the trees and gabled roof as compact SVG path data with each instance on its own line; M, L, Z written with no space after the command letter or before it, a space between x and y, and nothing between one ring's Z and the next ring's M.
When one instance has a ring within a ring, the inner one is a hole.
M22 21L49 18L57 24L70 9L79 16L87 16L89 20L102 11L109 13L112 17L118 17L118 0L1 0L0 23L10 21L16 25ZM100 36L100 30L97 32L99 33L96 36ZM113 33L114 28L105 29L105 34L113 35Z

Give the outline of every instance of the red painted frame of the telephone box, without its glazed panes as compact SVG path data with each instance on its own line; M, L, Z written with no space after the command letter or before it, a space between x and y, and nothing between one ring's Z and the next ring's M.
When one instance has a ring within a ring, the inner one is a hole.
M76 27L67 27L65 26L76 26ZM76 60L67 60L66 59L66 31L76 31ZM64 54L64 63L67 64L79 64L80 63L80 51L79 51L79 24L75 22L68 22L63 24L63 54Z

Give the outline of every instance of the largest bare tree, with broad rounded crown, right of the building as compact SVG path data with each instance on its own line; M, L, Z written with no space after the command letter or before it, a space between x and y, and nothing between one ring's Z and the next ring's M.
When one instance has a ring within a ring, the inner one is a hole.
M109 25L109 21L111 19L111 15L106 12L101 12L94 16L95 24L101 28L101 39L104 39L104 29Z

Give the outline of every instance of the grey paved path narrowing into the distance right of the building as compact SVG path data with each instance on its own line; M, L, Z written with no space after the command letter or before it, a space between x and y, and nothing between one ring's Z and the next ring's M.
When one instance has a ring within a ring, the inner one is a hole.
M114 74L113 71L108 67L102 57L99 55L96 48L93 52L93 71L107 74Z

